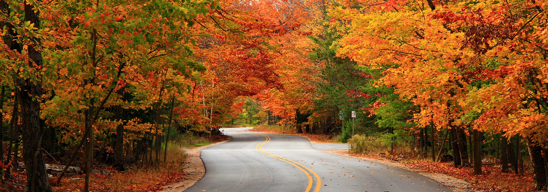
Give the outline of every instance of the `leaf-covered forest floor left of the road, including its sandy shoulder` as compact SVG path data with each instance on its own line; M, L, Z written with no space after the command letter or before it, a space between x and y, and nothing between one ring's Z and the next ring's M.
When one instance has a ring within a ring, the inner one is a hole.
M165 189L178 189L178 191L182 191L193 183L196 183L202 178L205 172L203 163L199 159L198 150L226 142L229 139L230 137L226 135L212 135L212 137L207 139L208 143L210 143L209 145L180 148L180 152L173 155L182 155L184 159L177 159L172 161L172 163L168 161L168 164L162 163L159 166L138 167L139 165L128 165L133 166L133 168L126 171L117 171L111 166L96 165L90 177L89 188L93 191L161 191ZM185 154L186 157L184 157ZM20 191L26 189L26 172L24 170L12 172L10 175L12 178L5 179L0 183L0 191ZM83 191L84 177L84 173L67 173L61 179L60 185L56 185L53 182L57 176L50 175L49 180L52 182L54 191Z

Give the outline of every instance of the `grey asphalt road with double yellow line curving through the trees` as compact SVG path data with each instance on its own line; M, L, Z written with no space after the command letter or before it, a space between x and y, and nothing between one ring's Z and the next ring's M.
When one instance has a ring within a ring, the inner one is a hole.
M225 128L232 140L201 151L206 175L185 191L451 191L417 173L319 150L344 144Z

